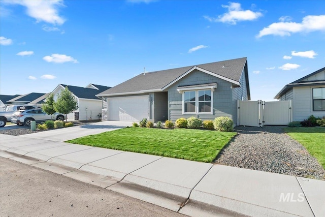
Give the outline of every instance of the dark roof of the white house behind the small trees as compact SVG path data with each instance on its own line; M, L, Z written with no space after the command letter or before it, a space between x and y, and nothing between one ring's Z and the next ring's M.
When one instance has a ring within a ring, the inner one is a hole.
M108 86L102 86L102 85L96 85L96 84L92 84L94 86L96 86L98 89L93 89L93 88L86 88L86 87L79 87L79 86L71 86L71 85L66 85L66 84L61 84L63 87L68 87L68 89L78 98L82 98L82 99L92 99L92 100L99 100L98 97L96 97L95 95L100 94L100 92L107 90L111 87Z

